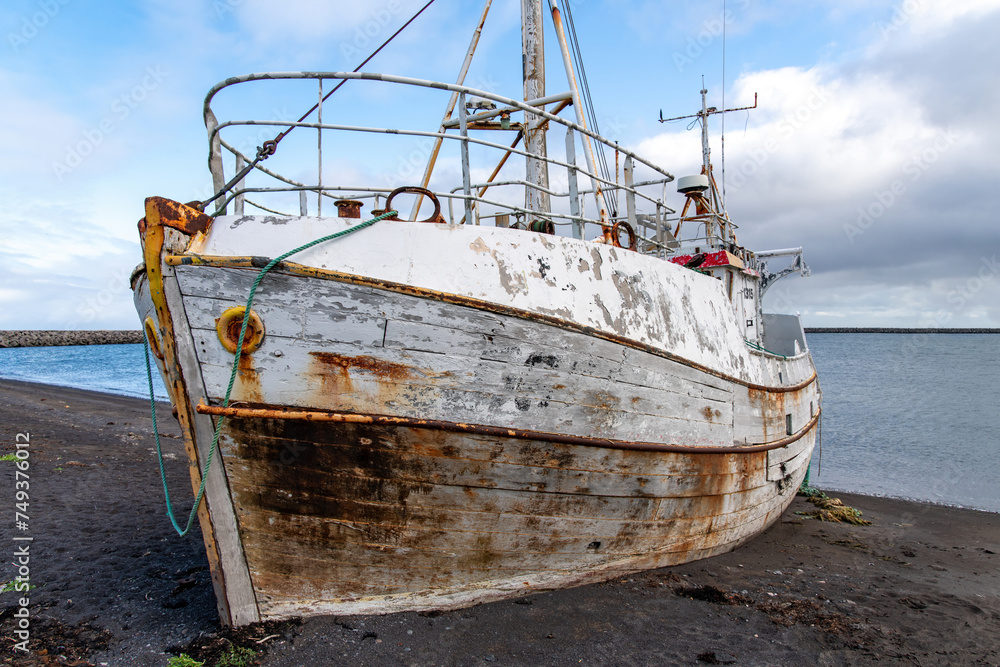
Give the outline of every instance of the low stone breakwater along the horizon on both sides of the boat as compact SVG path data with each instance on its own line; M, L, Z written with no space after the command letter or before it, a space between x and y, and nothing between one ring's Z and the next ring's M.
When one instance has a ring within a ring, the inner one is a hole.
M803 327L812 333L885 333L885 334L1000 334L1000 328L905 328L905 327ZM62 345L123 345L141 344L139 329L102 329L71 331L57 329L0 330L0 348L50 347Z

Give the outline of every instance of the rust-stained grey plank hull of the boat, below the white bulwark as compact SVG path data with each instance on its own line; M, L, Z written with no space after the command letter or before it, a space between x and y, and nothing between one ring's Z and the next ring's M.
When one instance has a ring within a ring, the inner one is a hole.
M257 270L178 258L188 239L171 233L157 246L147 232L136 304L159 325L195 486L209 413L229 415L201 514L224 622L456 607L711 556L774 521L805 476L819 415L807 352L718 349L730 332L691 361L625 335L637 299L601 328L318 260L265 279L266 334L219 412L233 355L216 322ZM639 269L718 299L710 278ZM691 344L673 318L669 335Z

